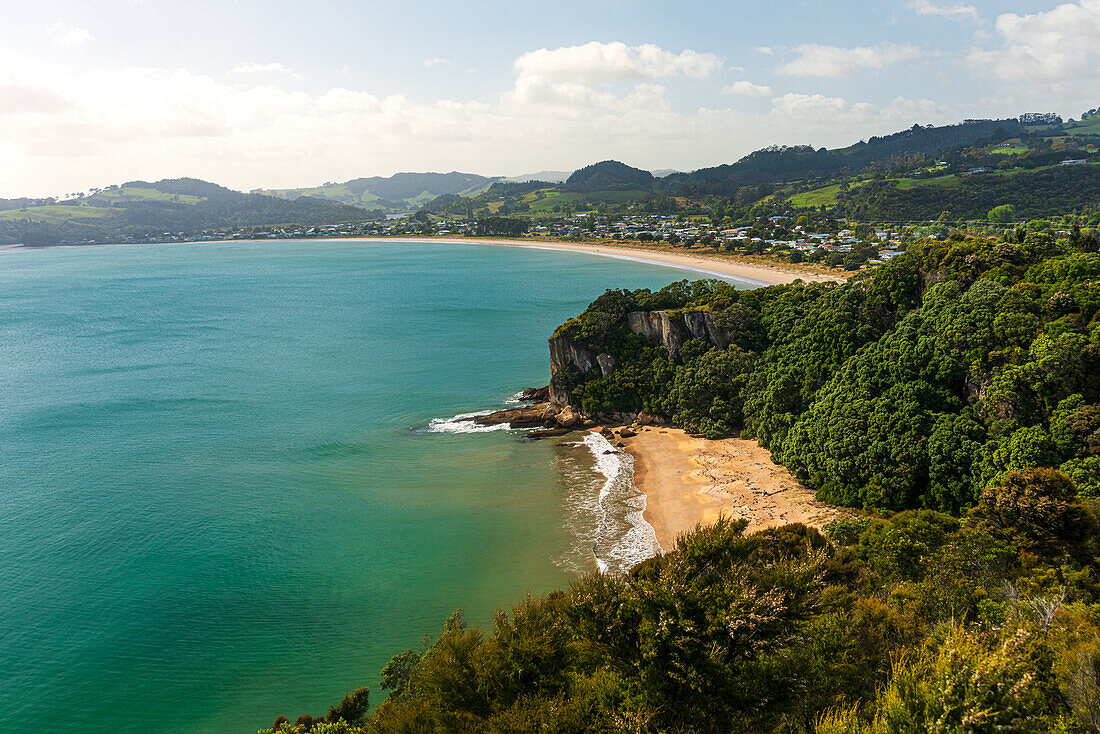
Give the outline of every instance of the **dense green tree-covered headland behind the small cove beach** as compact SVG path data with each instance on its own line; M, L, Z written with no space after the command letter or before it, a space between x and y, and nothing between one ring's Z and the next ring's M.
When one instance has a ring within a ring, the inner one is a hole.
M1048 233L953 235L844 285L608 292L559 331L615 370L554 380L586 413L758 437L832 503L958 511L1033 465L1100 495L1098 308L1100 254ZM672 361L627 326L657 309L708 311L737 336Z

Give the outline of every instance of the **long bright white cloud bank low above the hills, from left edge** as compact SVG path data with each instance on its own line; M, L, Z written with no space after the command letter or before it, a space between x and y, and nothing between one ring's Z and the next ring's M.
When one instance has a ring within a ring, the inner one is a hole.
M876 106L815 95L783 95L762 112L676 110L647 78L597 85L519 75L526 97L512 89L487 102L422 103L350 84L302 91L278 76L74 69L2 48L0 69L0 169L18 172L0 177L0 196L185 175L251 189L608 157L686 168L769 143L840 145L956 117L921 100Z

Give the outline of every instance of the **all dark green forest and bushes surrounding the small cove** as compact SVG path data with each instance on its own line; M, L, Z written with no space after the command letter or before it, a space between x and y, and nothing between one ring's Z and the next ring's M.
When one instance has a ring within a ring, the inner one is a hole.
M953 235L844 285L608 291L554 339L614 368L557 390L741 429L875 512L824 535L724 519L490 629L457 613L373 712L362 688L272 731L1100 732L1100 254L1077 243ZM657 313L729 343L630 328Z

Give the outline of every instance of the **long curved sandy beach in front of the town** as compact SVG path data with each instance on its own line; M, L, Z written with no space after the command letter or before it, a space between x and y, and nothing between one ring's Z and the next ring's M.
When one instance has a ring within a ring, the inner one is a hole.
M359 238L356 238L359 239ZM369 241L394 242L408 240L410 238L362 238ZM619 244L594 243L594 242L558 242L556 240L543 239L515 239L496 240L482 238L440 238L422 237L415 238L424 242L448 242L455 244L495 244L509 248L539 248L544 250L558 250L562 252L586 252L605 258L619 258L624 260L636 260L650 262L660 265L671 265L684 270L712 273L714 275L732 275L734 277L755 281L761 285L782 285L793 283L796 280L813 281L820 283L833 283L845 281L844 275L821 273L810 267L800 269L795 265L780 267L770 263L747 263L735 260L729 255L717 253L692 253L669 252L658 248L639 248Z

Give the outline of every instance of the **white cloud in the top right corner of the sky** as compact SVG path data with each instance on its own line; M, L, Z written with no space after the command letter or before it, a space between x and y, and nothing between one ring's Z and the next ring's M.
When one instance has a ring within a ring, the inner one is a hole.
M1004 13L994 24L1000 46L975 48L969 62L980 72L1021 83L1068 88L1100 80L1100 0L1081 0L1053 10ZM1081 89L1078 94L1096 94Z

